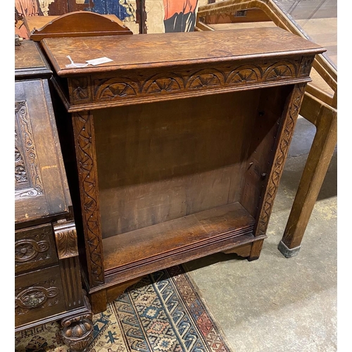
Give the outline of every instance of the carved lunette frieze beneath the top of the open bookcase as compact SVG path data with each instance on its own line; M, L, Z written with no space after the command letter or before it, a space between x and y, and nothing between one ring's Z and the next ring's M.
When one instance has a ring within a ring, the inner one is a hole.
M306 77L306 70L311 63L306 63L304 70L302 65L301 58L285 58L282 61L261 61L256 64L242 62L237 63L237 66L227 63L203 70L183 68L155 75L131 72L123 76L92 77L87 78L87 82L92 81L92 99L89 98L89 89L84 89L87 94L78 99L77 87L82 89L86 83L81 78L75 78L69 79L72 86L70 100L75 105L84 102L148 99L149 96L156 97L161 94L194 94L196 89L242 89L244 85L266 82L272 84L276 81Z

